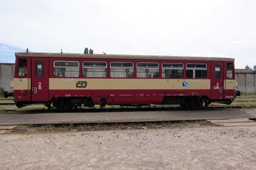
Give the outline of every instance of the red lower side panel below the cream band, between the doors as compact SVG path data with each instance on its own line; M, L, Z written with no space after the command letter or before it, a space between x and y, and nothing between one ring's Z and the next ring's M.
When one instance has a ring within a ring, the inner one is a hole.
M164 96L210 96L210 90L50 90L49 99L90 96L94 104L105 98L108 105L161 104Z

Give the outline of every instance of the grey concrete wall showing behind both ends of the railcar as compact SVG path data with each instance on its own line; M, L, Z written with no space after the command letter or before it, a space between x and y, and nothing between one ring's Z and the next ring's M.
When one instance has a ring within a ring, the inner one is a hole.
M0 63L0 87L5 91L13 91L10 87L14 75L14 64ZM242 93L254 93L256 94L256 72L239 72L236 73L236 79L238 81L237 90Z

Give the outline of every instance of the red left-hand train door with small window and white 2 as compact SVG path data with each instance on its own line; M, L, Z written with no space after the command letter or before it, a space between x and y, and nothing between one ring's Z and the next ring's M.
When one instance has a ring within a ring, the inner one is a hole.
M32 101L49 101L48 58L32 57Z

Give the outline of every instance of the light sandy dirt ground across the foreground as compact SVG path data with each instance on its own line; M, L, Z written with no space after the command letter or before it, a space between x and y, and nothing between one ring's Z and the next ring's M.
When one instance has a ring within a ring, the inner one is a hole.
M0 169L256 169L256 126L0 135Z

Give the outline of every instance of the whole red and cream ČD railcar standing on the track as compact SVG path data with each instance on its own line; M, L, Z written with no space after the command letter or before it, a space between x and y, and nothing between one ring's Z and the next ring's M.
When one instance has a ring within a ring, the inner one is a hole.
M233 58L15 53L11 82L18 107L230 104L236 98ZM8 96L8 92L5 93ZM238 95L238 92L237 92Z

